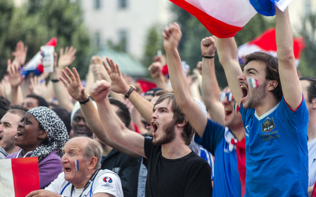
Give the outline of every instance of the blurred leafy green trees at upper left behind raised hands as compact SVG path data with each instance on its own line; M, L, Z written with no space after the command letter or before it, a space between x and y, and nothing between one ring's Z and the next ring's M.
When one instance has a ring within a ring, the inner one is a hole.
M14 7L9 0L0 0L0 76L6 69L6 60L13 58L15 45L22 40L28 46L27 60L35 55L40 46L57 37L56 52L61 47L77 48L73 65L84 77L88 70L87 56L90 39L83 25L79 3L70 0L29 0L21 7Z

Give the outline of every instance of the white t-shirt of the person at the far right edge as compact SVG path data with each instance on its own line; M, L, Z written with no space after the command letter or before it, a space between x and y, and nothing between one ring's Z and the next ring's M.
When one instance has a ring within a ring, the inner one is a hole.
M307 143L308 149L308 187L316 181L316 138Z

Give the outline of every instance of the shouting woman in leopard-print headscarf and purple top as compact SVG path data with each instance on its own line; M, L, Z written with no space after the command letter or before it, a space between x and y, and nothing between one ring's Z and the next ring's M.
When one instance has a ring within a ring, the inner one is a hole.
M69 140L66 126L58 115L48 107L35 107L25 114L18 124L15 145L18 152L6 158L38 157L40 188L48 186L63 171L61 151Z

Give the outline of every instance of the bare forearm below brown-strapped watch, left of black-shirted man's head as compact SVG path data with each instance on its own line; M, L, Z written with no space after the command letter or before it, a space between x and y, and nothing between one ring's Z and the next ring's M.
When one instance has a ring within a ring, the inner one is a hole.
M151 123L151 115L153 115L154 105L146 99L144 99L139 94L137 94L136 91L132 91L128 99L131 101L131 103L134 105L137 111L143 116L143 118L148 123Z

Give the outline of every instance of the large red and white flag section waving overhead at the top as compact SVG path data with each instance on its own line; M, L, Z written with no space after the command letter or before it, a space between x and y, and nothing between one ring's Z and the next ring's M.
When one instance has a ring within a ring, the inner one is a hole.
M249 0L170 0L218 38L233 37L257 13Z

